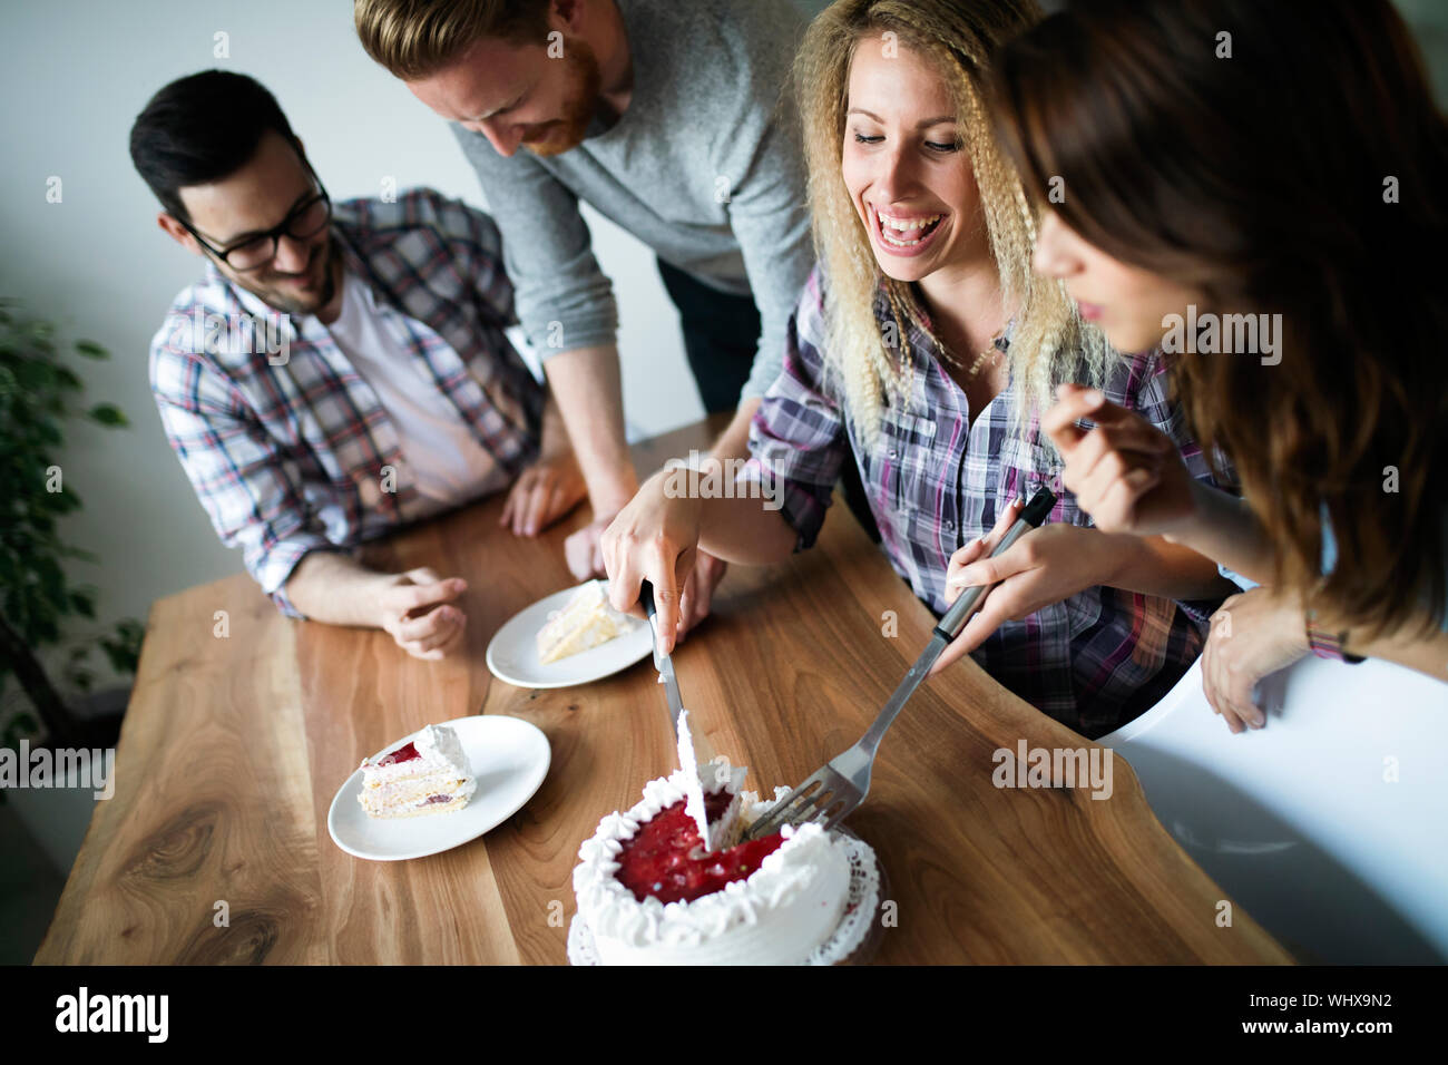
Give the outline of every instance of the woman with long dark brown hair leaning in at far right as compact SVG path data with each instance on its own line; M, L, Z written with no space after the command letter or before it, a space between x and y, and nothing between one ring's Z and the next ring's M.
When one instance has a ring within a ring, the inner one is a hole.
M1073 4L995 90L1047 209L1038 270L1118 348L1176 349L1192 430L1241 480L1245 501L1205 485L1098 388L1045 417L1099 529L1253 588L1213 625L1213 709L1260 727L1255 681L1309 651L1448 680L1448 126L1393 6Z

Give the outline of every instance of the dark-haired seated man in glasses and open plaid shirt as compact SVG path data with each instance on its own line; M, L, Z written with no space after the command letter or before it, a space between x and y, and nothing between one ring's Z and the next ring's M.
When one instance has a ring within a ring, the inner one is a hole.
M426 188L333 204L275 99L240 74L162 88L130 155L158 223L206 259L151 346L171 448L227 546L294 617L462 642L460 578L376 572L363 540L511 487L536 535L584 481L508 342L492 220Z

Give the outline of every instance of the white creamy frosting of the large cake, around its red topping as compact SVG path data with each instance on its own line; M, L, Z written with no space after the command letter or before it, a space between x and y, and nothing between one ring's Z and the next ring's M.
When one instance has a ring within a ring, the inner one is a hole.
M715 759L702 774L704 791L728 791L728 807L710 822L710 836L724 849L772 803L738 793L744 769ZM798 965L835 932L850 891L849 846L818 824L786 827L783 842L753 872L689 900L641 901L620 878L618 858L657 814L686 803L686 769L649 781L643 801L611 813L578 852L573 893L578 917L592 935L604 965ZM780 790L783 793L783 790ZM715 807L720 800L714 800ZM679 820L679 814L670 814ZM673 823L673 822L670 822ZM686 829L698 839L692 819ZM728 853L720 855L720 869ZM710 866L712 868L712 866ZM747 864L741 868L747 868ZM662 881L654 887L660 887Z

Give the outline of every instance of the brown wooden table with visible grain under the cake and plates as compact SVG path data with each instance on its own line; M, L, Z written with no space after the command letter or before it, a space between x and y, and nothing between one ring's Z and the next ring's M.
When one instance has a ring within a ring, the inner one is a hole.
M640 469L705 446L692 426L636 448ZM494 632L572 584L562 542L497 525L501 498L374 552L468 578L468 651L408 658L384 633L294 623L245 577L158 600L116 762L39 964L566 961L579 843L675 768L649 661L579 688L494 680ZM924 648L930 613L843 503L789 562L734 567L675 655L686 704L750 785L795 784L853 743ZM216 611L227 611L219 638ZM898 635L886 636L886 611ZM337 787L429 722L513 714L549 738L533 800L487 836L368 862L327 835ZM1290 962L1167 836L1124 759L1109 800L992 784L998 748L1077 748L969 658L895 723L851 827L877 851L895 926L880 962ZM216 904L229 927L214 923Z

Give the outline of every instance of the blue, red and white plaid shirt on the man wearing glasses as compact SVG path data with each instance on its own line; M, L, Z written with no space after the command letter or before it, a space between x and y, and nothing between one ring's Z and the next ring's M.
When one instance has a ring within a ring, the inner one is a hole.
M381 327L517 475L537 455L544 393L504 336L513 287L492 219L418 188L339 203L332 233L343 270L372 287ZM355 548L436 507L327 327L279 314L214 264L152 341L151 390L217 535L285 614L301 617L284 587L307 552Z

